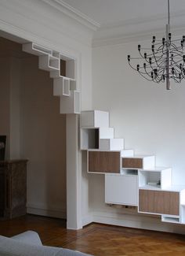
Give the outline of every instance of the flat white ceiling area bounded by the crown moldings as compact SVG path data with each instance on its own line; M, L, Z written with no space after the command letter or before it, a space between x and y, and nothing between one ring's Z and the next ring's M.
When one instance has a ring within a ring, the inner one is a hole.
M167 0L63 0L101 26L124 20L163 15L167 21ZM185 11L184 0L170 1L171 13Z

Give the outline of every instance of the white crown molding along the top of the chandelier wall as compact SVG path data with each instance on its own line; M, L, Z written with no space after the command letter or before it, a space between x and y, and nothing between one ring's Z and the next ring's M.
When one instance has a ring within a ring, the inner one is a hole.
M185 11L172 13L171 32L173 36L185 34L184 16ZM93 47L151 40L152 35L158 38L164 37L166 21L165 15L154 15L105 24L94 33Z

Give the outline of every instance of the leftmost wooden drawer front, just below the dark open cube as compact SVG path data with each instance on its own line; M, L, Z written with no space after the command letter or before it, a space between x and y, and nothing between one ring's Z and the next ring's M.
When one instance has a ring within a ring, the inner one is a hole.
M120 152L89 151L89 172L120 173Z

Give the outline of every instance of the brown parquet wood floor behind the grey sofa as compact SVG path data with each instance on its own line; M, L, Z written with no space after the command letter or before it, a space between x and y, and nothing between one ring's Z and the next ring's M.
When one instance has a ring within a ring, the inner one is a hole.
M2 236L13 236L26 230L38 232L44 245L80 250L96 256L185 256L183 235L104 224L89 224L74 231L67 230L63 220L34 215L0 221Z

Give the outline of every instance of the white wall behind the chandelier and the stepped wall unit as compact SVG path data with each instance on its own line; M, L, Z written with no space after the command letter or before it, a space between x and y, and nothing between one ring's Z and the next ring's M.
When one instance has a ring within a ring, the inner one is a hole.
M137 56L136 51L137 43L93 49L93 109L109 110L115 137L125 139L125 148L156 155L156 165L172 167L172 183L184 185L185 82L172 83L166 91L165 84L144 80L127 63L127 54ZM92 176L91 190L93 209L112 211L99 196L104 193L102 177Z

